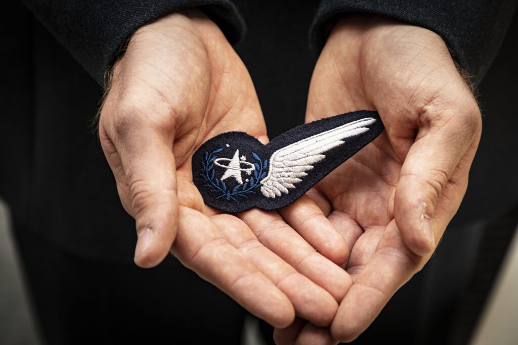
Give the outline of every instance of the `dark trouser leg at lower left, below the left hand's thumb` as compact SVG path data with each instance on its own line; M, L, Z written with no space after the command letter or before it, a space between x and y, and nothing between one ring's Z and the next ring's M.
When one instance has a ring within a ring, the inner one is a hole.
M244 310L172 257L141 269L17 237L48 344L240 343Z

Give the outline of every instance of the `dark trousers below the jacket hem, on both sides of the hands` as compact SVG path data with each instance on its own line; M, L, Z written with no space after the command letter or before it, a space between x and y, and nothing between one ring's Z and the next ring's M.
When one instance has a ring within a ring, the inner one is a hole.
M518 208L449 229L355 343L467 343L517 223ZM240 343L246 312L176 259L152 269L96 261L17 230L47 343ZM273 343L272 328L262 323L261 331Z

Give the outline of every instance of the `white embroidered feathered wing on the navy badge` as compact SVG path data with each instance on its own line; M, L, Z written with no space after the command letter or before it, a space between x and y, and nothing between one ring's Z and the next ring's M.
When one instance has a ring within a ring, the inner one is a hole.
M343 144L340 139L368 131L363 126L375 122L372 117L362 118L278 149L270 157L268 175L261 181L261 193L267 198L289 193L288 188L295 188L302 181L300 178L307 175L306 171L313 169L312 164L325 158L322 153Z

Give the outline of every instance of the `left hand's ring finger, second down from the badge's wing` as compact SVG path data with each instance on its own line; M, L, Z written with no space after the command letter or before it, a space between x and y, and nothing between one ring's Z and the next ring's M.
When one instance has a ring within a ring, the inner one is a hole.
M263 245L341 301L352 284L351 277L311 247L278 213L251 209L239 217Z

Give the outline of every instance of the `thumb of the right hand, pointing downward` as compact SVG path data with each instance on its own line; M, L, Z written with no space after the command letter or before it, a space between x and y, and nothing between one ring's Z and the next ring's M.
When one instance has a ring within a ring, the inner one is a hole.
M478 142L480 112L476 103L458 112L430 110L421 122L401 167L394 217L405 243L414 253L426 256L436 245L437 201L461 158Z

